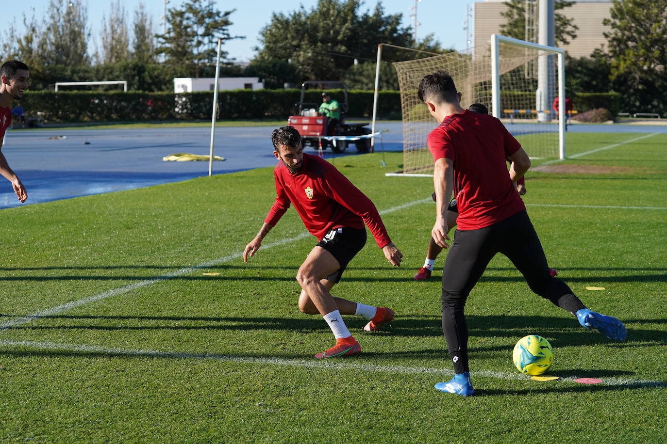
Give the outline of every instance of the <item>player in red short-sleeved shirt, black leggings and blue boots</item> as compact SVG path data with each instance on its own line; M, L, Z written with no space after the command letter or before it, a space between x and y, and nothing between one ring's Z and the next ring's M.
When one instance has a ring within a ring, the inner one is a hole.
M422 79L418 95L440 125L428 136L435 162L434 240L448 248L446 212L452 192L459 214L456 239L442 273L442 330L454 363L454 377L436 389L470 396L468 326L464 306L486 266L502 253L524 275L530 290L575 316L579 323L610 339L627 332L616 318L588 310L570 287L549 274L542 244L528 218L516 180L530 167L528 154L497 118L464 110L461 93L444 71ZM512 162L507 174L506 158Z

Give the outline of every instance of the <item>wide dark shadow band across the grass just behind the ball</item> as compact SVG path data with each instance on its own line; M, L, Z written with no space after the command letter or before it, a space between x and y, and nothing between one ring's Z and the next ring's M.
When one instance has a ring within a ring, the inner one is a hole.
M5 318L7 318L5 316ZM0 318L1 319L1 318ZM374 337L442 337L440 317L430 316L400 316L394 322L384 326L379 332L358 332L368 320L360 317L346 316L346 324L352 333L359 338L364 335ZM11 330L101 330L101 331L208 331L223 332L327 332L326 324L319 316L300 315L295 312L293 318L257 318L257 317L209 317L209 316L69 316L53 315L39 318L45 320L59 320L59 325L28 325L10 327ZM89 320L87 323L67 325L68 321ZM133 325L108 325L108 321L137 321ZM636 347L638 345L654 345L667 343L667 332L641 328L641 324L666 324L667 320L628 320L624 322L628 327L628 339L618 343L600 335L589 332L580 327L573 318L558 318L549 316L466 316L470 332L469 348L473 353L489 351L506 351L507 343L514 343L521 337L529 334L539 334L549 339L553 347L578 347L590 345L604 345L606 347ZM139 325L137 325L139 324ZM634 326L632 324L640 324ZM485 338L494 338L496 342L506 338L506 343L500 345L484 345ZM443 348L446 348L443 339ZM412 352L407 352L412 353ZM439 352L442 355L442 351Z

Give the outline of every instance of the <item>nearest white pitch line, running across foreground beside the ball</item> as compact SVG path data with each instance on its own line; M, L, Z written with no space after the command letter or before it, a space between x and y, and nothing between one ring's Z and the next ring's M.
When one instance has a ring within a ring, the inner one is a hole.
M112 347L100 347L98 345L78 345L54 342L38 341L7 341L0 339L0 345L7 347L32 347L51 350L68 350L81 353L99 353L103 355L122 355L129 357L149 358L174 358L174 359L201 359L223 362L247 363L258 365L284 365L289 367L305 367L316 369L377 371L382 373L403 374L429 374L442 375L446 378L452 375L450 369L434 367L409 367L405 365L378 365L370 363L354 363L350 359L345 360L316 360L312 359L283 359L280 357L247 357L234 355L220 355L215 353L189 353L183 351L159 351L159 350L133 350ZM526 381L525 375L517 373L504 373L500 371L474 371L474 376L490 377L494 379ZM559 381L573 381L578 376L562 377ZM667 381L641 381L627 377L602 377L605 385L623 385L627 387L667 387Z

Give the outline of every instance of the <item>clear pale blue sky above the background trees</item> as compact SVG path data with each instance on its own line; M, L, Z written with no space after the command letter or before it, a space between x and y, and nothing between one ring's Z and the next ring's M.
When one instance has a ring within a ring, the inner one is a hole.
M66 7L67 1L60 0L63 9ZM92 31L92 43L89 46L89 52L93 53L99 47L99 33L101 30L101 23L103 15L109 14L109 3L111 1L105 0L72 0L80 1L88 7L88 25ZM134 11L142 1L149 15L153 18L153 27L155 32L161 32L164 1L163 0L121 0L121 5L127 11L127 23L131 24L133 20ZM178 7L184 3L184 0L169 0L167 7ZM374 9L378 0L366 0L362 5L362 11L366 9ZM412 25L413 19L410 18L412 11L410 7L414 6L414 0L384 0L386 14L402 14L404 16L404 26ZM453 47L455 49L466 48L466 33L464 31L464 22L466 20L466 5L474 3L472 0L422 0L418 3L418 20L422 25L417 28L417 38L424 37L427 34L434 33L436 39L444 47ZM230 6L235 4L236 6ZM289 13L299 7L305 6L306 9L311 9L317 4L317 0L301 0L301 1L275 1L275 0L245 0L232 2L229 0L215 1L215 7L221 11L228 11L229 9L236 9L231 14L230 18L233 25L229 28L232 35L244 35L245 39L237 39L227 41L223 47L229 57L237 59L238 61L248 61L253 58L255 52L253 48L259 43L259 30L267 25L271 20L271 13L283 12ZM49 0L23 0L21 2L7 3L3 7L3 14L0 16L0 40L6 39L5 29L15 23L15 27L20 31L23 30L23 13L28 16L32 15L31 9L37 11L36 16L41 19L43 14L47 11ZM472 27L472 23L471 23ZM97 45L97 46L96 46Z

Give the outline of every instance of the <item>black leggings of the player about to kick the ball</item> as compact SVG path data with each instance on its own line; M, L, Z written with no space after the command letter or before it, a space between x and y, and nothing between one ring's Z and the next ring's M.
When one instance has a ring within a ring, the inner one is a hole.
M479 230L456 230L442 273L442 331L456 373L468 371L466 299L497 253L507 256L524 275L530 290L542 298L573 315L586 308L565 282L549 274L542 244L526 210Z

